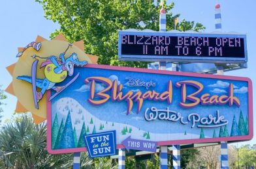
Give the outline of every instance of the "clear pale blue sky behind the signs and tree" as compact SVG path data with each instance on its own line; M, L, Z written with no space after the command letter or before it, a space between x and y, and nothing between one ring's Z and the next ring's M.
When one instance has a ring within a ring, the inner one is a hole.
M167 1L170 3L171 1ZM181 19L202 23L206 29L204 32L212 32L215 29L214 6L216 0L175 0L173 14L181 14ZM247 34L248 47L248 68L225 72L225 75L235 75L240 77L249 77L255 88L256 81L256 10L255 0L219 0L221 5L221 19L223 32L239 32ZM44 11L39 3L32 0L26 1L1 1L0 5L0 85L1 88L7 88L12 81L12 77L5 69L10 64L17 61L16 54L18 47L25 47L29 42L35 40L37 35L49 39L50 33L59 29L57 23L44 18ZM16 107L16 97L7 94L3 107L4 117L10 118ZM255 100L255 90L253 90ZM255 102L255 101L254 101ZM255 110L255 105L253 109ZM254 115L254 122L256 116ZM256 125L254 125L254 135L256 135ZM256 136L249 142L242 144L256 144Z

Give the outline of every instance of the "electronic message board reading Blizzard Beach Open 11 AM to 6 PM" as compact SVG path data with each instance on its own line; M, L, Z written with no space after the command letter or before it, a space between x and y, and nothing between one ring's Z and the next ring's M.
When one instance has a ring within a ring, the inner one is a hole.
M247 62L245 34L120 31L119 60Z

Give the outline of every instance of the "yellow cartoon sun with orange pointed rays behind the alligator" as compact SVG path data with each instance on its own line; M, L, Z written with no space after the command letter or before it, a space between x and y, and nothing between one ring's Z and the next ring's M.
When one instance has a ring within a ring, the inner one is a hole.
M18 62L7 67L8 72L12 75L12 83L5 90L9 94L17 97L15 112L31 112L34 122L40 123L46 120L46 94L39 101L39 109L35 108L33 102L33 91L31 83L26 83L17 79L18 76L31 76L31 66L35 61L32 56L40 56L37 64L37 78L44 79L44 68L40 68L40 64L45 62L47 57L56 56L63 53L69 46L69 42L63 34L59 34L53 40L46 40L41 36L37 36L36 43L31 43L31 47L18 47ZM72 53L77 54L78 60L86 60L88 63L96 64L98 57L84 53L84 41L72 43L72 46L66 52L65 57ZM38 59L38 58L37 58Z

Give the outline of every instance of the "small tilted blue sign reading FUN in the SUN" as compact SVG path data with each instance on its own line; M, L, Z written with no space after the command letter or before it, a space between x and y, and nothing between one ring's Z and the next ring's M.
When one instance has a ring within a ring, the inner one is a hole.
M116 131L84 135L89 157L116 155Z

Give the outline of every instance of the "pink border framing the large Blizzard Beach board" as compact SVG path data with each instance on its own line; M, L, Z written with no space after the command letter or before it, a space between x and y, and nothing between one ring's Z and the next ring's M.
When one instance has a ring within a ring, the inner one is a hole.
M190 77L204 77L212 79L226 79L226 80L235 80L235 81L247 81L248 82L248 127L249 135L245 136L227 136L220 138L199 138L199 139L188 139L188 140L172 140L172 141L161 141L157 142L157 146L167 146L174 144L195 144L195 143L209 143L209 142L237 142L242 140L251 140L253 138L253 89L251 79L248 77L236 77L228 75L212 75L212 74L202 74L202 73L187 73L187 72L171 72L167 70L150 70L144 68L128 68L121 66L108 66L101 64L88 64L85 68L98 68L98 69L107 69L107 70L119 70L126 72L142 72L142 73L156 73L164 75L179 75L179 76L190 76ZM46 99L48 100L51 96L51 92L46 92ZM51 103L47 102L47 150L52 154L59 153L74 153L74 152L83 152L87 151L86 148L68 148L68 149L52 149L52 116L51 116ZM123 144L118 144L117 148L124 148Z

